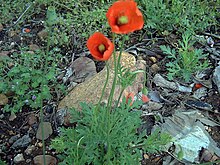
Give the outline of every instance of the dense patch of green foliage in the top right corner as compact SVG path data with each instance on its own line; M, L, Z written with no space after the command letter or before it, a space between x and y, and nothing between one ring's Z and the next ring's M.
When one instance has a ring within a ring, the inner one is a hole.
M145 16L145 28L156 29L159 32L177 30L183 33L203 31L212 24L217 10L205 1L180 0L138 0ZM217 6L217 2L215 2Z

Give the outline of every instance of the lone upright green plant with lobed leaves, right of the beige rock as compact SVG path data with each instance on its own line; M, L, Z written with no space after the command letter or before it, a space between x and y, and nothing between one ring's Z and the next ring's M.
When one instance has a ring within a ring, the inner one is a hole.
M160 46L161 50L171 60L171 62L166 64L169 80L173 80L174 77L180 77L189 82L193 73L208 68L208 54L203 54L201 49L193 48L194 42L191 36L188 31L182 35L182 41L178 42L177 51L169 46Z

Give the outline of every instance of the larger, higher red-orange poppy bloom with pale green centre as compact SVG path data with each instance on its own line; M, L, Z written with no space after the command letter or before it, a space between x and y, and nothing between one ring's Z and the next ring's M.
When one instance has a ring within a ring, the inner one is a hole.
M133 0L119 0L113 3L106 17L112 32L117 34L140 30L144 25L143 15Z

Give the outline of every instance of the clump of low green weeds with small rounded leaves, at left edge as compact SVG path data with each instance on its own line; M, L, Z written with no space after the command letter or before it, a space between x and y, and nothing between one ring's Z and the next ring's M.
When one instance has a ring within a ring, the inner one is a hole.
M44 61L50 63L47 74L44 74ZM49 100L51 88L63 88L56 82L58 73L57 60L60 55L51 51L48 57L45 53L38 51L36 53L28 53L21 51L19 54L13 54L13 59L4 60L0 67L0 93L11 93L11 104L4 107L6 112L22 111L24 105L28 105L33 109L39 108L41 99ZM7 65L13 63L12 68ZM3 67L4 66L4 67ZM40 88L41 84L43 88Z

